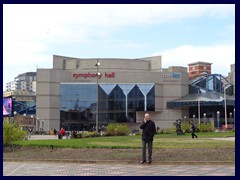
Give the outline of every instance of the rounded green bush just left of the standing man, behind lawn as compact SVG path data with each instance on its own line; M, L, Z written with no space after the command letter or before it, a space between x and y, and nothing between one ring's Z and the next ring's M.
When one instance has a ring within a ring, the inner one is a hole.
M127 124L108 124L105 131L106 136L125 136L130 134L130 128Z

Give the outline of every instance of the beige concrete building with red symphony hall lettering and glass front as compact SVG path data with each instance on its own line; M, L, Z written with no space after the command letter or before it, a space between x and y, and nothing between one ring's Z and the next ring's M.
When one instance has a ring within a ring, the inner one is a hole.
M169 128L176 119L189 116L187 108L167 106L189 93L188 81L186 67L163 69L161 56L53 55L52 69L37 69L36 117L44 120L45 131L89 130L96 126L97 114L99 127L114 122L138 128L148 112L156 126Z

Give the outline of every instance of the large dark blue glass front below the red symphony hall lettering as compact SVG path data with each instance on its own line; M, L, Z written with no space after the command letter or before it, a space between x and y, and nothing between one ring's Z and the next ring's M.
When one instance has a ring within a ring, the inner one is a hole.
M61 83L61 126L90 130L96 125L96 104L96 84ZM154 84L99 84L98 106L99 125L136 122L136 111L155 110Z

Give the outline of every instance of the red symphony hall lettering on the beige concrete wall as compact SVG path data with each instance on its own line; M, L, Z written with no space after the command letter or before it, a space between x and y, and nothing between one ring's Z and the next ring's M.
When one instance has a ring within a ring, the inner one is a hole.
M102 77L105 77L105 78L114 78L115 77L115 72L111 72L111 73L104 73L104 74L100 74L100 75L97 75L97 73L73 73L72 77L74 79L86 79L86 78L96 78L98 76L98 79L101 79Z

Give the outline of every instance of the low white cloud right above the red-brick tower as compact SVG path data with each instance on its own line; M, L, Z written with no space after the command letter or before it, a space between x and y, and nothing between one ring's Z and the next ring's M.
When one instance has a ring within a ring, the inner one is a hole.
M189 63L203 61L212 64L212 73L227 75L230 72L230 64L235 63L234 45L210 45L210 46L192 46L182 45L176 48L164 50L155 55L162 56L162 66L184 66ZM229 67L226 67L229 65Z

